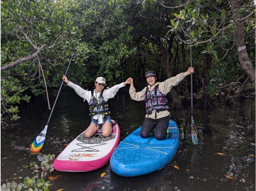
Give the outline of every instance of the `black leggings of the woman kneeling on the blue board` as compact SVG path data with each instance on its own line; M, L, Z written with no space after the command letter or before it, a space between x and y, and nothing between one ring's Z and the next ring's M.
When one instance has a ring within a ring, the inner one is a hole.
M145 121L140 130L140 136L142 138L148 137L151 132L156 128L155 137L158 140L162 140L166 137L166 130L169 125L169 116L159 118L159 119L151 119L145 118Z

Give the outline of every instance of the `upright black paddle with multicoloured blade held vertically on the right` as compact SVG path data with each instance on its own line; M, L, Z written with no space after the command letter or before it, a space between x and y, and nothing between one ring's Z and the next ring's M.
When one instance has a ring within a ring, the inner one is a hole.
M190 23L189 32L191 33L192 25ZM192 67L192 46L190 46L190 67ZM194 145L196 145L198 140L198 133L196 129L196 124L193 118L193 73L190 73L190 92L191 92L191 138Z

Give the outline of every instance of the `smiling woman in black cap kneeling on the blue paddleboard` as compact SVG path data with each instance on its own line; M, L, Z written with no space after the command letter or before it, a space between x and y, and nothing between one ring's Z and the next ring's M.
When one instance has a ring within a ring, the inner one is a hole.
M162 140L166 137L166 130L170 118L166 94L171 91L173 86L177 86L185 76L190 73L194 73L194 68L189 67L187 72L180 73L163 82L156 82L156 73L150 70L145 74L149 85L140 92L136 92L133 86L133 79L130 78L131 87L129 93L131 98L136 101L146 101L147 115L145 116L145 121L140 130L140 136L142 138L148 137L154 129L156 139Z

